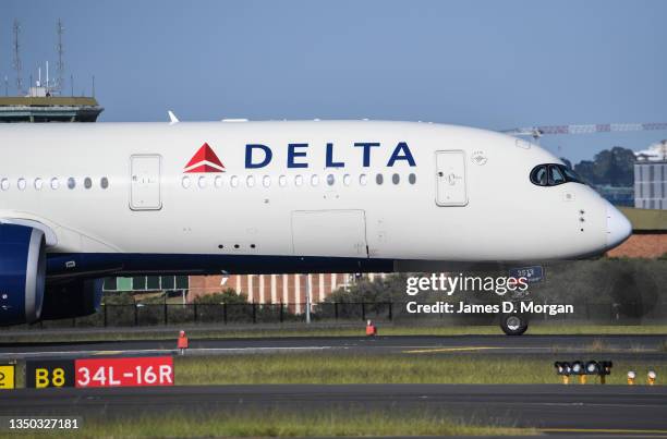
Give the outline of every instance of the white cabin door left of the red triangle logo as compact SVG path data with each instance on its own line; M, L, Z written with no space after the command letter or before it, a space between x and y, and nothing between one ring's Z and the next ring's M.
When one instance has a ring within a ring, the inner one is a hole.
M132 210L159 210L160 166L158 155L137 155L130 158L130 208Z

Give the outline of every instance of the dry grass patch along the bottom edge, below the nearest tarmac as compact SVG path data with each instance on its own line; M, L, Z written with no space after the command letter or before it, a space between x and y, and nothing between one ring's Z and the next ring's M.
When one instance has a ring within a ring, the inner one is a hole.
M360 436L520 436L533 429L471 425L437 413L363 410L209 414L167 413L122 419L84 419L73 438L195 438L195 437L360 437ZM52 436L36 432L32 437Z

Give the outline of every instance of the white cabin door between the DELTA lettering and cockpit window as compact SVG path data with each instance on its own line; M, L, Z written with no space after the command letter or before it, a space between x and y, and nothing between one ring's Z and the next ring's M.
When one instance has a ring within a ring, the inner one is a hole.
M464 151L436 151L436 204L438 206L468 204Z

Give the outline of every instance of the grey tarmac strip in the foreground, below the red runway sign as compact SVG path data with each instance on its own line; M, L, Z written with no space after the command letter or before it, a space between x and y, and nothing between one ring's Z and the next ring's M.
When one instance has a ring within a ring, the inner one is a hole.
M536 427L546 432L624 430L667 435L667 388L556 385L271 385L137 389L20 389L0 393L3 415L107 417L220 410L244 413L411 410L464 422ZM363 413L362 412L362 413ZM428 413L430 413L428 412ZM593 432L593 431L592 431ZM604 432L604 431L598 431Z

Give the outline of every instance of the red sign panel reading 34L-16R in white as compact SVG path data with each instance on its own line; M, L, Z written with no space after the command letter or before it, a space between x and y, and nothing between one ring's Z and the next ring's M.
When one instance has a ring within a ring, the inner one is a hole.
M78 388L173 386L173 358L82 358L74 362L74 376Z

